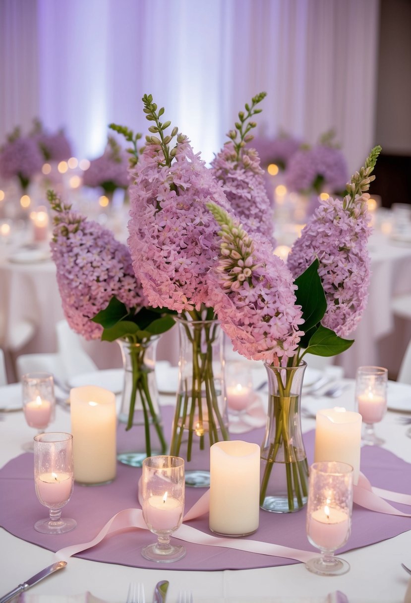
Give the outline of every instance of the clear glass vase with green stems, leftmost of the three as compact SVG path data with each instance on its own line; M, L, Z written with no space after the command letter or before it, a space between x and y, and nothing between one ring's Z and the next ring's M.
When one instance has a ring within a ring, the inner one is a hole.
M159 336L143 343L117 339L124 365L120 423L125 423L125 434L119 438L119 461L125 465L142 467L148 456L165 454L167 443L163 434L162 416L155 380L155 353Z

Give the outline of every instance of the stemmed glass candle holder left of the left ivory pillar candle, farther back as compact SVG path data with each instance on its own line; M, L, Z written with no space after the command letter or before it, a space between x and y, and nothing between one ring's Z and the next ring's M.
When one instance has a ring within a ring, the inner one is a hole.
M54 419L54 379L50 373L26 373L22 376L23 411L27 424L42 434ZM23 449L33 452L33 440Z

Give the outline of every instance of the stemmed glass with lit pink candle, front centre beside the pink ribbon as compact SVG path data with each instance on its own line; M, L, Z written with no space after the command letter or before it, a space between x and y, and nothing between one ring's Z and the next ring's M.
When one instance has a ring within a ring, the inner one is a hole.
M143 460L142 508L148 529L157 542L141 554L150 561L170 563L186 554L182 545L171 545L171 534L180 527L184 513L184 461L178 456L148 456Z

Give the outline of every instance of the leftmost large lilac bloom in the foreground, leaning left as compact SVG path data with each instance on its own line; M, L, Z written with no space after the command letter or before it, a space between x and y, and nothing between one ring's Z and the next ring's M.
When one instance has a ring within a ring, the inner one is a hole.
M60 206L61 208L61 206ZM107 308L111 297L135 308L146 305L134 275L130 251L110 230L89 221L70 206L55 215L51 242L64 316L86 339L99 339L102 326L91 318Z

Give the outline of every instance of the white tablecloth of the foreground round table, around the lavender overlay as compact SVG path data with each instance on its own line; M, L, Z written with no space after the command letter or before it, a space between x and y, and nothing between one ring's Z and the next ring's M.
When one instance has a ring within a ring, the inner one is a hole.
M312 405L321 403L324 408L339 405L353 409L354 382L345 380L344 383L346 388L339 398L330 400L303 396L303 406L312 408ZM15 395L16 387L18 386L9 385L2 388L1 396ZM411 386L404 386L404 388L406 388L408 402L403 414L407 414L407 409L411 412ZM173 405L174 396L163 395L161 402L162 405ZM411 463L410 439L406 437L406 430L409 427L398 421L399 416L398 410L389 410L383 421L377 425L378 435L385 438L384 447L387 450L407 463ZM411 414L407 414L407 416L411 417ZM33 429L26 425L21 411L4 412L2 418L4 420L0 421L0 467L3 467L10 459L21 455L22 444L34 435ZM313 428L315 428L315 420L304 417L303 431ZM67 409L57 406L55 420L49 426L49 431L69 431L69 429L69 412ZM241 435L233 437L242 438ZM409 482L411 478L411 465L407 465L407 467L409 467L409 472L404 475L404 482ZM135 484L131 484L130 487L134 488ZM45 509L40 503L38 505L39 516L41 516ZM119 510L122 508L124 507L121 507L120 503ZM64 512L69 516L70 502ZM93 508L87 509L87 512L90 515L93 514ZM260 511L260 513L265 512ZM305 513L305 510L299 513ZM77 528L77 531L79 538L77 542L83 542L84 538L81 538L80 529ZM72 534L74 533L72 532ZM138 533L136 532L137 542ZM54 561L54 554L51 551L21 540L7 532L6 529L0 529L0 550L2 551L0 595L13 589L24 579ZM374 545L344 552L341 556L350 563L351 570L344 576L333 578L313 575L306 570L302 563L246 570L182 571L178 570L177 566L173 567L173 564L159 564L158 569L142 569L141 567L99 563L72 557L64 570L39 582L30 589L29 593L37 595L56 595L58 593L70 596L89 591L104 601L124 603L128 583L138 581L144 583L146 595L148 595L146 600L151 601L155 583L160 579L166 579L170 582L169 603L177 601L180 589L192 590L194 603L202 603L206 600L234 603L234 601L240 602L242 599L255 603L257 601L266 603L275 601L277 603L280 601L280 597L284 597L284 601L291 603L297 601L299 597L304 597L304 601L308 601L309 599L305 599L308 596L312 598L310 600L313 602L322 600L325 602L327 593L337 590L345 593L350 603L403 603L408 576L401 568L400 563L411 565L410 531Z

